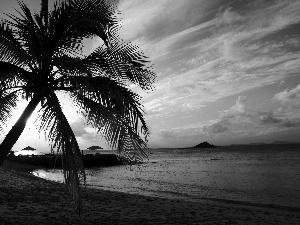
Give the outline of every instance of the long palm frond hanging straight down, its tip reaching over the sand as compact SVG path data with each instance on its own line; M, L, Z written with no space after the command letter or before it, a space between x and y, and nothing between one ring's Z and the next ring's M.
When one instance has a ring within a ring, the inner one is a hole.
M77 203L79 213L81 206L79 184L85 183L85 172L81 152L75 135L62 112L59 100L54 92L49 93L42 102L39 112L40 130L47 131L51 148L63 158L63 171L66 184Z

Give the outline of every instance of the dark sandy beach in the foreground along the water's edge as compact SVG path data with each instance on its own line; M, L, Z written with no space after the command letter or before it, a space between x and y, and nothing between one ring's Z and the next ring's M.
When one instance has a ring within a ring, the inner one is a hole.
M0 168L0 224L80 224L63 184L34 177L30 165ZM300 211L131 195L82 188L83 224L300 224Z

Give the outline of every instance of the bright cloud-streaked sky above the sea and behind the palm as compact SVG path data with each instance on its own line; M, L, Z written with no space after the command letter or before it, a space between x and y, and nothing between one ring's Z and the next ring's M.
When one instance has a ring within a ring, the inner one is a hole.
M0 15L12 7L15 0L1 0ZM300 1L121 0L118 9L120 36L140 46L157 74L154 91L132 87L142 96L150 148L299 142ZM108 148L61 103L81 149ZM33 122L14 150L49 149Z

